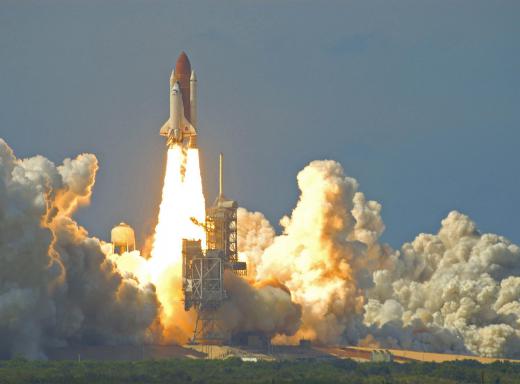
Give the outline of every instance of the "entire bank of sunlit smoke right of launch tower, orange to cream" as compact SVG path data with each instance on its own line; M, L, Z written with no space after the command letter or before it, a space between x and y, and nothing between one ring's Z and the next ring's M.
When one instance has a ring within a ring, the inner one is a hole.
M238 216L250 276L284 284L302 306L293 339L520 353L518 246L451 212L437 235L393 250L379 242L381 205L338 163L313 161L297 179L300 199L280 236L261 213Z

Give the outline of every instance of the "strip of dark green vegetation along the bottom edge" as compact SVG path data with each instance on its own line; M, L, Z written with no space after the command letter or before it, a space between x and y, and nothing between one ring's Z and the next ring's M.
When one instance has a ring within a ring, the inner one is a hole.
M16 383L520 383L520 364L478 362L258 362L237 359L0 361L0 384Z

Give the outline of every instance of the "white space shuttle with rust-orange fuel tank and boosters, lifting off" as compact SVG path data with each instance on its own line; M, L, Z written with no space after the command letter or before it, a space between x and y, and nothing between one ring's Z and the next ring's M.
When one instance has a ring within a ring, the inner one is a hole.
M197 148L197 78L190 60L181 52L170 76L170 117L159 134L168 148L174 145Z

